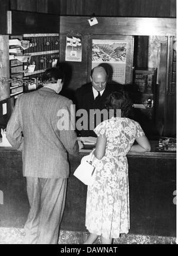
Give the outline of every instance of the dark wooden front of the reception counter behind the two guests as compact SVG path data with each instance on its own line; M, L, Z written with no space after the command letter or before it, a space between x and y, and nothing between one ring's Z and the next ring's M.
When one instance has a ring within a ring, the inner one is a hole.
M87 186L75 178L81 158L69 156L71 176L68 181L65 213L61 229L85 231ZM176 153L129 153L130 233L176 236ZM26 178L22 175L21 153L0 148L0 226L23 227L29 210Z

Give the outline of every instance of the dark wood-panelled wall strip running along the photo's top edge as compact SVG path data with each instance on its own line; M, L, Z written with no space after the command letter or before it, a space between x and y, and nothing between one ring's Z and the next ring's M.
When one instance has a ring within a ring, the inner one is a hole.
M176 0L11 0L11 10L87 16L95 13L105 17L176 17Z

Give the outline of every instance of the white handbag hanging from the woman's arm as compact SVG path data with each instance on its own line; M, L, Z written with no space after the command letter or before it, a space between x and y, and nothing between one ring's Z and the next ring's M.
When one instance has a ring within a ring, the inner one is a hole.
M89 186L91 186L94 182L95 166L92 165L94 157L93 151L88 156L82 157L80 165L74 172L74 176L76 178L80 179L81 182Z

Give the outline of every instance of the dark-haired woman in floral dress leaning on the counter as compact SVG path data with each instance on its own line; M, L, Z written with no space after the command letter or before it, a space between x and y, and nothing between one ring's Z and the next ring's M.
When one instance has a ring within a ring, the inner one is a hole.
M94 165L95 181L88 186L85 226L90 232L84 244L93 244L101 236L102 244L112 244L120 233L129 232L129 151L150 151L150 143L142 128L132 119L131 100L125 91L110 94L107 109L115 115L101 122L94 132L97 134ZM121 116L116 116L116 110ZM136 140L137 144L134 144ZM133 145L134 144L134 145ZM99 160L98 160L99 159Z

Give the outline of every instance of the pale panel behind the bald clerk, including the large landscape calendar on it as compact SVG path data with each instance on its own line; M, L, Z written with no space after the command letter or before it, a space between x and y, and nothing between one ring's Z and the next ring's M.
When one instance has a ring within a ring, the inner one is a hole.
M102 65L109 74L109 83L132 83L133 52L133 36L93 36L90 69Z

